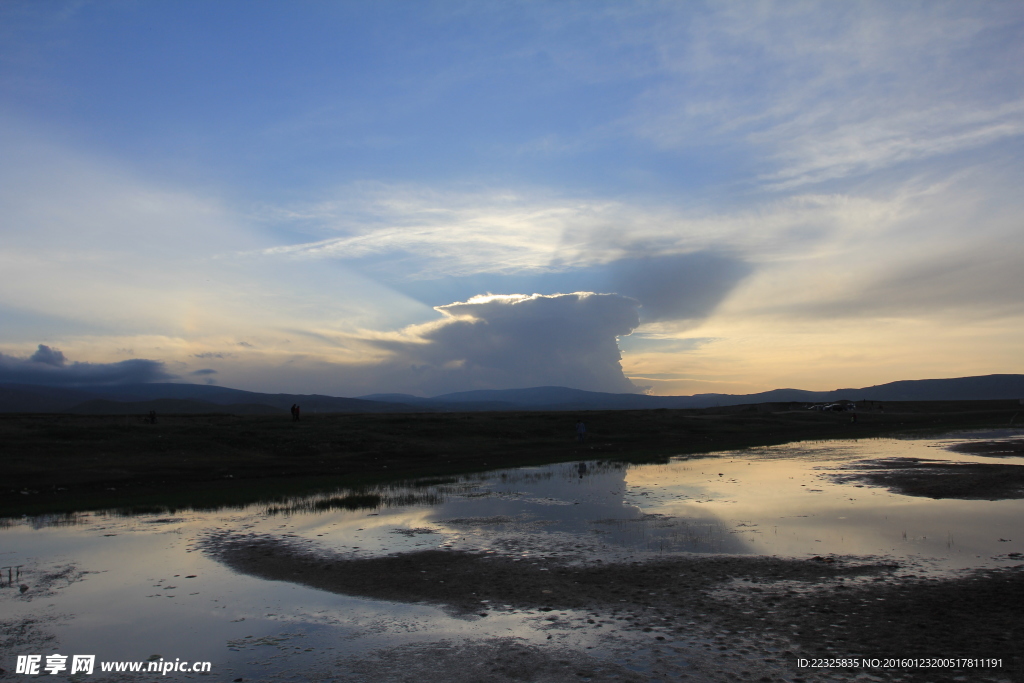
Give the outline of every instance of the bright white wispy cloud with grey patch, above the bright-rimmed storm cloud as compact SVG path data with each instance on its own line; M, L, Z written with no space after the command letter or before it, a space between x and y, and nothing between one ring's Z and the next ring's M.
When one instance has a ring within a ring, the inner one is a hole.
M804 201L709 217L528 191L359 190L288 212L349 234L263 254L342 261L430 305L487 291L617 293L640 301L645 322L709 314L751 272L743 251L829 210Z

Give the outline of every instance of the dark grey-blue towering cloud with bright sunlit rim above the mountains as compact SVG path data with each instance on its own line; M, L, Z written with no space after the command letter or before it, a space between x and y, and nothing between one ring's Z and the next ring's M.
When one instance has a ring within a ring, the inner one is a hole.
M394 357L375 367L375 376L428 394L532 386L637 391L623 375L615 340L639 325L633 299L580 292L477 297L438 310L447 319L419 341L376 342Z

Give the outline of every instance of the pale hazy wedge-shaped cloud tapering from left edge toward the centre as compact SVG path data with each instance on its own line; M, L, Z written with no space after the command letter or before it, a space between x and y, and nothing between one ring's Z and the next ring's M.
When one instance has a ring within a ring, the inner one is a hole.
M252 254L276 239L208 188L50 137L0 114L0 343L136 334L255 341L270 321L389 329L432 313L337 263L268 264Z

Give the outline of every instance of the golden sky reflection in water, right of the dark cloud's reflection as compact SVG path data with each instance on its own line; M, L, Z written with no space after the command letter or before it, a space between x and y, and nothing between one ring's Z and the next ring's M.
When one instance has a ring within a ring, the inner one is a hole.
M641 499L645 512L679 519L713 515L742 541L742 552L763 555L886 555L965 568L1024 550L1024 538L1014 532L1022 501L914 498L855 482L838 484L827 476L850 461L876 458L1021 460L966 456L936 445L881 439L801 443L676 461L631 469L628 500Z

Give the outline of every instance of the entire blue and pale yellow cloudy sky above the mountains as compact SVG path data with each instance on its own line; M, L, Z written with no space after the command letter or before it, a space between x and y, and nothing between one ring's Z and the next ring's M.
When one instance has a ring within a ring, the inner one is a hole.
M0 0L0 382L1024 373L1024 3Z

